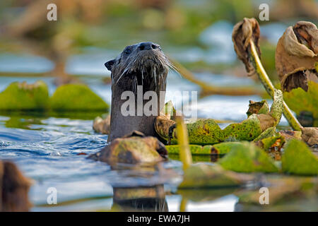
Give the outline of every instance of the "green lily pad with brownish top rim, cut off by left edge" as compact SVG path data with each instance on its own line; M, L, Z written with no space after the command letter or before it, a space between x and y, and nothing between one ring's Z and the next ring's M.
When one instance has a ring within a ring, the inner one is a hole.
M42 81L34 84L11 83L0 93L0 110L38 110L49 108L49 91Z

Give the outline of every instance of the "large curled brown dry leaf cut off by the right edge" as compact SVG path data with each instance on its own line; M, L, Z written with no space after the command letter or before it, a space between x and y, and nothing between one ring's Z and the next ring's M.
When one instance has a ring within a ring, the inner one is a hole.
M318 61L318 29L307 21L288 27L276 47L276 71L281 88L307 91L308 80L318 81L315 63Z

